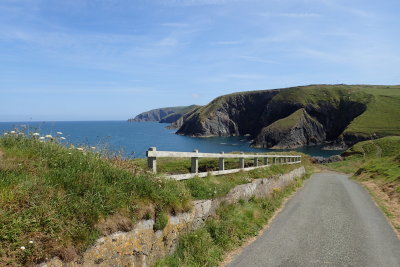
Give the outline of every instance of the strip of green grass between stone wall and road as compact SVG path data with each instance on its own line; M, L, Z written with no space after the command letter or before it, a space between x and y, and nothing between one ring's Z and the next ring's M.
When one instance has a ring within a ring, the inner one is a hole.
M256 236L284 199L302 184L303 178L283 190L275 190L268 199L254 198L220 207L215 218L182 236L176 252L160 260L156 266L218 266L229 251Z

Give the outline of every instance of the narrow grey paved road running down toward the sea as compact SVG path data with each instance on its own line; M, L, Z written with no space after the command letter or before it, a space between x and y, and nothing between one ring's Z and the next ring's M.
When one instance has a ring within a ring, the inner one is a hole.
M400 266L400 240L367 191L314 174L233 266Z

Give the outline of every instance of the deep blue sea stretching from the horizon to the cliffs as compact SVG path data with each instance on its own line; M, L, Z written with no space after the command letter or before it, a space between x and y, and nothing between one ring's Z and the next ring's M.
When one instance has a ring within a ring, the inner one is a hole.
M144 158L149 147L167 151L199 152L268 152L283 151L251 148L250 140L244 136L194 138L176 135L174 130L166 129L168 124L157 122L126 121L60 121L60 122L0 122L0 133L16 128L39 132L42 135L56 135L62 132L66 145L95 146L120 152L127 158ZM321 147L303 147L297 151L312 155L329 157L342 151L322 150Z

